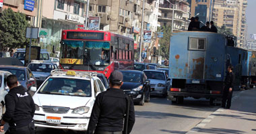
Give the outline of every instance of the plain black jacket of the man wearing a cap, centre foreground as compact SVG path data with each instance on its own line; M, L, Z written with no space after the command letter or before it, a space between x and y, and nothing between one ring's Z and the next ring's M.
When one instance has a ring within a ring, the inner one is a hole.
M94 131L123 131L123 121L127 109L127 94L121 89L109 88L96 97L88 125L88 134ZM133 100L130 100L128 133L135 123Z

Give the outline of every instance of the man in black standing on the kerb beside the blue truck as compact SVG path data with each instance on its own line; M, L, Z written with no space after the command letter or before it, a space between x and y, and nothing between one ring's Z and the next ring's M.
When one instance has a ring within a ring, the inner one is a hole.
M222 108L230 109L231 98L234 86L234 73L232 72L233 66L228 66L228 72L224 81L224 88L222 93Z

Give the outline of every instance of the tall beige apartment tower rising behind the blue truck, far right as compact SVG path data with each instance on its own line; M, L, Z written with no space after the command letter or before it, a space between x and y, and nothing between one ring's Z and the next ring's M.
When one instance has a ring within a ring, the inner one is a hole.
M213 3L212 20L218 27L226 29L237 37L237 46L243 47L246 36L245 9L247 0L215 0Z

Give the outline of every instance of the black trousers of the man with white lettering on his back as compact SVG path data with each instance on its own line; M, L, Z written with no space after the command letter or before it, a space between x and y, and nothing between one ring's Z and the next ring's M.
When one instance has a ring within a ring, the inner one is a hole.
M34 134L34 121L24 127L9 127L5 134Z

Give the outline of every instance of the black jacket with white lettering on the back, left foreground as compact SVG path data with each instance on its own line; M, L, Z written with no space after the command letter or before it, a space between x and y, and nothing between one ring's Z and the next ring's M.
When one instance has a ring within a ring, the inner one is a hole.
M3 121L11 127L24 127L31 123L36 110L34 100L23 86L11 88L5 96Z

